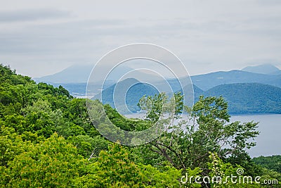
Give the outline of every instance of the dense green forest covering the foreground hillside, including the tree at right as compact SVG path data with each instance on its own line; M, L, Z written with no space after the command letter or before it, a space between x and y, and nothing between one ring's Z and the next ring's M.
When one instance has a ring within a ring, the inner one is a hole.
M122 146L96 130L86 99L74 98L61 86L37 84L8 66L0 65L0 72L0 187L280 187L280 156L249 157L246 150L255 145L258 123L229 123L222 97L200 96L188 107L177 93L175 125L169 131L148 144ZM163 105L169 104L165 94L142 101L142 106L152 102L144 120L104 108L117 127L140 131L157 122ZM97 100L88 102L102 106ZM183 111L190 122L180 119ZM95 123L106 126L100 119ZM261 184L227 182L237 170L243 171L238 175L260 176ZM185 175L220 176L226 183L183 182Z

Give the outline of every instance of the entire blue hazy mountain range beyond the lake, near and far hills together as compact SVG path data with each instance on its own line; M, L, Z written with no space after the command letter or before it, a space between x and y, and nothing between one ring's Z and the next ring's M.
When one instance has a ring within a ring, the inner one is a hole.
M116 89L116 81L120 75L130 71L130 68L121 68L117 73L112 74L111 80L107 80L103 85L103 103L113 104L113 91ZM91 73L90 66L70 67L55 75L34 78L37 82L48 82L55 86L63 85L70 93L75 95L85 95L86 80ZM141 74L140 74L141 75ZM143 73L142 73L143 76ZM155 80L152 75L145 75L150 83L161 86L164 84ZM220 96L228 101L230 113L281 113L281 70L273 65L256 65L243 68L242 70L218 71L204 75L191 76L194 89L195 101L200 95ZM181 90L178 80L167 80L173 92ZM115 91L115 102L122 112L127 113L126 106L122 106L124 99L129 111L138 111L136 106L138 99L144 94L152 95L157 93L157 89L149 84L138 83L136 79L125 79L119 84L119 88L126 88L132 85L124 94L122 89ZM90 92L93 99L100 99L102 82L91 83ZM124 95L126 97L124 98ZM117 97L117 98L116 98ZM124 98L124 99L123 99ZM119 109L119 110L120 110Z

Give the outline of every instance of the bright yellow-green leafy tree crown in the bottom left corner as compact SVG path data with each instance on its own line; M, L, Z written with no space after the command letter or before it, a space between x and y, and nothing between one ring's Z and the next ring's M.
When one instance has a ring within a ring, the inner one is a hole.
M1 184L7 187L71 187L84 165L77 149L53 134L37 144L25 146L13 161L1 167Z

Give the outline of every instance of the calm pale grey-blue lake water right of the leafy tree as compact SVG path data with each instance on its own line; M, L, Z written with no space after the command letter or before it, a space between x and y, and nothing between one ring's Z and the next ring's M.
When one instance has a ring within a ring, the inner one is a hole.
M231 121L235 120L259 122L256 146L248 151L251 157L281 154L281 114L233 115Z

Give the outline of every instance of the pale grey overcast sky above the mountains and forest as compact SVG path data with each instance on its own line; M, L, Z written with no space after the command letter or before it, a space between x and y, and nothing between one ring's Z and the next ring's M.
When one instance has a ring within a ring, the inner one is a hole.
M41 77L136 42L174 52L191 75L281 68L281 1L2 1L0 63Z

